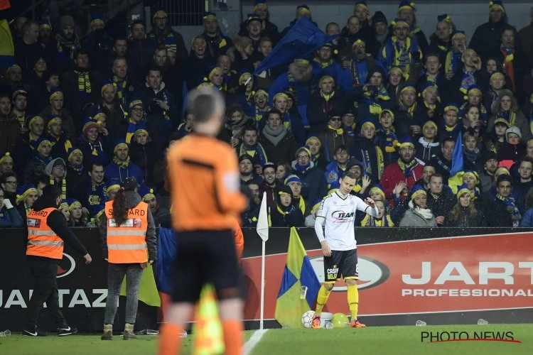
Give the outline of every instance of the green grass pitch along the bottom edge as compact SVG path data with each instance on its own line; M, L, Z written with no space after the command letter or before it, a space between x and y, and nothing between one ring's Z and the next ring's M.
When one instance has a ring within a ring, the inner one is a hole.
M512 342L421 342L421 332L512 332ZM254 331L245 332L247 339ZM183 343L190 354L193 336ZM69 337L0 338L2 355L156 354L157 337L102 342L99 334ZM426 327L367 327L360 329L270 329L252 350L253 355L283 354L533 354L533 324L434 325Z

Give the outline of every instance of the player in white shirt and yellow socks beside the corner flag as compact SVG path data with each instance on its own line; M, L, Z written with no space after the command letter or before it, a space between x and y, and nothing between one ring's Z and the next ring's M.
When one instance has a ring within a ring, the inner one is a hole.
M357 320L357 308L359 307L359 293L357 283L359 270L357 268L357 242L355 241L354 220L357 209L377 217L379 211L370 197L364 201L355 195L350 195L350 191L355 185L355 175L345 173L339 179L340 187L323 198L321 206L318 208L315 221L316 236L321 242L322 253L324 255L324 275L325 281L318 291L316 299L316 311L311 322L311 327L321 327L321 314L325 302L335 285L336 280L340 280L343 275L348 288L348 307L352 314L350 327L366 327ZM322 227L325 224L325 235Z

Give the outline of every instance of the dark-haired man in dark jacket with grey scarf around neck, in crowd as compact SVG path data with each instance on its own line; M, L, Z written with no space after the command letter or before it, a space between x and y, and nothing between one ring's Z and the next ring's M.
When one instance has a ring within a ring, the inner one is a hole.
M274 163L291 160L298 149L298 142L284 126L281 112L277 109L266 113L266 126L262 130L259 143L263 146L266 156L271 157Z

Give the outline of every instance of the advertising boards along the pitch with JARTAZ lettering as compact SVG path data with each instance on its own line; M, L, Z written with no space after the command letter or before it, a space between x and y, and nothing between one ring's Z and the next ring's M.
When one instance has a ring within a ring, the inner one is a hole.
M73 229L90 251L86 266L68 247L58 268L60 305L68 322L84 332L99 332L107 296L107 266L97 229ZM261 239L243 229L244 318L259 327ZM318 278L323 280L321 249L313 229L298 229ZM0 329L20 331L33 281L26 265L26 232L1 229ZM360 317L367 324L519 323L533 319L533 229L357 228ZM289 229L274 228L266 242L265 325L279 327L274 310L283 274ZM348 313L338 283L325 311ZM336 292L338 291L338 292ZM123 302L121 302L122 304ZM157 329L157 308L139 302L137 329ZM43 313L45 313L45 308ZM124 324L119 307L117 329ZM43 329L53 329L50 317Z

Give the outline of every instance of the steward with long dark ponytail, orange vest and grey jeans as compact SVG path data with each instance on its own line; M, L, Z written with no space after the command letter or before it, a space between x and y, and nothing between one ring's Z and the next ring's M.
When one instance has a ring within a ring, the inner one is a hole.
M134 325L139 288L144 268L157 260L157 236L154 217L148 204L137 193L134 177L121 182L114 200L105 203L100 218L102 254L107 265L107 300L102 340L113 339L113 323L119 304L120 288L126 276L126 312L124 337L136 339ZM145 275L146 276L146 275Z

